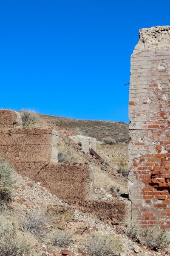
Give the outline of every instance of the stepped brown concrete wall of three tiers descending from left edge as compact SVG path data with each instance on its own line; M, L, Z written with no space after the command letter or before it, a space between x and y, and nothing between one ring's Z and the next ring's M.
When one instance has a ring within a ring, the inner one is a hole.
M22 128L20 113L0 110L0 156L58 197L84 200L93 193L93 170L83 163L57 163L58 138L51 128Z

